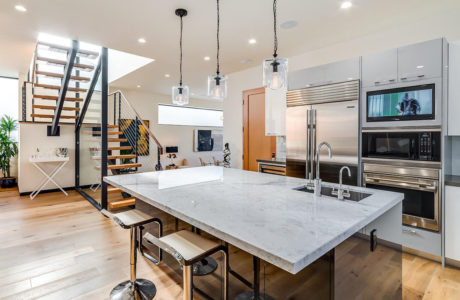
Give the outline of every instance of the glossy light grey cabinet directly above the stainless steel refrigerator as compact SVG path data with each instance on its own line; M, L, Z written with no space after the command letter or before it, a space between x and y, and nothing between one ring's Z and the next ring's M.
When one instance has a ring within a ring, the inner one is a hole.
M288 89L337 83L359 79L359 57L289 72Z

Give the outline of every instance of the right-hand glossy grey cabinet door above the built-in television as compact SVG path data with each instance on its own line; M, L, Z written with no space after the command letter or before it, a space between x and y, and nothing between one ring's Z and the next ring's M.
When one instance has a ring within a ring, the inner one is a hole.
M398 80L415 81L442 76L442 39L398 48Z

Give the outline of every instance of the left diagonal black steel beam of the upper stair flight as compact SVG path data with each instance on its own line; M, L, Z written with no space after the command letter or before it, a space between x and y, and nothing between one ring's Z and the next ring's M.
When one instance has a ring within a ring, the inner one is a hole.
M56 110L54 111L53 123L51 125L51 135L56 136L58 133L59 120L61 118L62 108L64 107L67 88L69 87L70 78L72 77L72 69L75 64L75 58L78 51L78 41L72 41L72 49L67 54L67 63L64 67L64 77L62 78L61 89L59 90L58 100L56 102Z

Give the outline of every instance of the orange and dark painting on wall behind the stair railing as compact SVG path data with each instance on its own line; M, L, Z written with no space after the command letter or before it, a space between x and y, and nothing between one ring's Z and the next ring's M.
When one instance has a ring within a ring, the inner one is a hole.
M147 127L150 127L148 120L144 122ZM138 155L149 155L149 134L140 121L137 121L136 124L136 121L132 119L120 119L120 130L123 132L120 138L128 139L128 142L121 142L120 146L131 146L130 142L133 144L137 142Z

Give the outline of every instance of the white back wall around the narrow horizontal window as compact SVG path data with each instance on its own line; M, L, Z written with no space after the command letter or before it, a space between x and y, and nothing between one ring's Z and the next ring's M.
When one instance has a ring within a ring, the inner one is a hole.
M112 88L114 90L114 88ZM217 160L222 161L222 151L213 152L193 152L193 130L211 129L222 130L221 127L192 127L192 126L174 126L158 125L158 104L172 104L171 97L168 95L158 95L138 90L123 90L123 94L141 115L144 120L150 121L150 130L157 137L163 147L178 146L176 164L184 158L188 160L189 165L199 166L201 157L207 162L212 162L214 156ZM212 100L191 99L191 107L215 108L222 109L222 102ZM140 157L139 162L145 162L146 159L156 162L156 149L150 145L150 155L148 158ZM170 160L165 155L162 157L162 165L165 167L170 164ZM147 165L147 163L145 163Z

